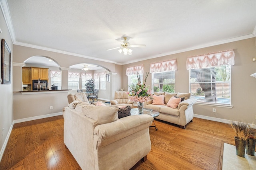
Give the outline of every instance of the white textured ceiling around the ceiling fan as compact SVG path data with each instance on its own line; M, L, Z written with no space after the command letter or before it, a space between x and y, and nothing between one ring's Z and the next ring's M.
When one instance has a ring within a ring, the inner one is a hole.
M256 1L8 0L14 44L117 64L255 37ZM130 37L133 55L116 38Z

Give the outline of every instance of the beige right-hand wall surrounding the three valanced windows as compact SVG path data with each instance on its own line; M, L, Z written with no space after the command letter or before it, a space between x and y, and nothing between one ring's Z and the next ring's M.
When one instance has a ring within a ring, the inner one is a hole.
M231 68L231 104L230 108L217 106L194 105L194 113L202 116L214 117L219 119L227 119L234 121L246 121L247 123L256 122L256 78L250 76L256 72L256 62L252 61L256 57L255 38L245 39L222 45L215 45L184 53L158 57L146 61L123 65L122 84L125 90L128 89L128 77L125 76L126 67L144 64L144 73L149 72L149 64L170 59L177 59L177 71L175 72L175 91L189 91L189 70L186 70L187 57L202 55L234 49L235 65ZM145 74L144 74L145 76ZM148 76L147 85L151 87L151 74ZM212 112L212 108L216 108L216 113Z

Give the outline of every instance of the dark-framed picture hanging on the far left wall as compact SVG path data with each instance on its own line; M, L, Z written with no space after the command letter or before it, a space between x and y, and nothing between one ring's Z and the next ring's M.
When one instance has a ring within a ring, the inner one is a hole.
M6 41L2 39L1 42L1 78L2 84L11 84L11 51Z

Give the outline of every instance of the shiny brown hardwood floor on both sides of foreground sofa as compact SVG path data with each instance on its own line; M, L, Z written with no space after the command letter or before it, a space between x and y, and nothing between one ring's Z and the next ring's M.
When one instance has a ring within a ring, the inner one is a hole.
M194 118L181 129L155 123L148 160L132 170L217 170L222 141L234 145L228 124ZM81 170L63 143L63 127L62 115L14 124L0 170Z

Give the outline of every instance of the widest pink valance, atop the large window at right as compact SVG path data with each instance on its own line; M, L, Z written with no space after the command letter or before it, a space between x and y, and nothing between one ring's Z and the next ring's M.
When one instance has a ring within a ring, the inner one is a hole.
M235 53L233 50L209 53L195 57L189 57L186 62L187 70L195 68L207 68L226 64L234 65Z

